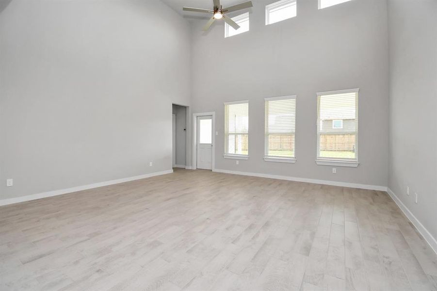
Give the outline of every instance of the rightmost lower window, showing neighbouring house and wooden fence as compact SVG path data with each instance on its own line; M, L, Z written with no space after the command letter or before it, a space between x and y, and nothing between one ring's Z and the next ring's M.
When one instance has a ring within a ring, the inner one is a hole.
M317 93L317 163L358 166L358 89Z

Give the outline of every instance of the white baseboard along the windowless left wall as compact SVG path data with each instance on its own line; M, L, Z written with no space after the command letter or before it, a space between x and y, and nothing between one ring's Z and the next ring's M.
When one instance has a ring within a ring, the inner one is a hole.
M105 182L99 182L99 183L77 186L77 187L72 187L72 188L67 188L67 189L54 190L54 191L43 192L43 193L38 193L38 194L20 196L20 197L15 197L15 198L0 199L0 206L14 204L14 203L18 203L18 202L30 201L30 200L40 199L40 198L46 198L46 197L51 197L51 196L56 196L56 195L62 195L62 194L67 194L67 193L72 193L72 192L77 192L77 191L82 191L82 190L88 190L88 189L93 189L93 188L98 188L98 187L103 187L103 186L108 186L108 185L113 185L113 184L118 184L118 183L123 183L123 182L129 182L129 181L133 181L133 180L139 180L139 179L144 179L144 178L149 178L149 177L154 177L154 176L159 176L159 175L164 175L164 174L170 174L170 173L173 173L173 170L166 170L166 171L155 172L155 173L150 173L150 174L146 174L146 175L109 180L109 181L105 181Z

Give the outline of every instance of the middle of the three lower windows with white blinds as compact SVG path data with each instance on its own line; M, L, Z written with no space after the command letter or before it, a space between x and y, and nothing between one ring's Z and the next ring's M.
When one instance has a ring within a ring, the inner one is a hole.
M265 98L265 157L268 162L294 162L296 96Z

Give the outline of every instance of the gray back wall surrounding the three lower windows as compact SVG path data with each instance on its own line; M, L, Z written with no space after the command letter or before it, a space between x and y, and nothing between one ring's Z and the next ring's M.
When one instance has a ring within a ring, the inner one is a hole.
M193 27L193 112L217 115L215 167L386 186L388 32L385 1L351 1L322 10L298 1L297 17L265 26L255 0L250 31L224 38L222 22ZM221 90L211 90L216 84ZM360 88L357 168L318 166L316 92ZM264 97L297 95L295 164L264 162ZM249 99L249 160L224 159L225 101Z

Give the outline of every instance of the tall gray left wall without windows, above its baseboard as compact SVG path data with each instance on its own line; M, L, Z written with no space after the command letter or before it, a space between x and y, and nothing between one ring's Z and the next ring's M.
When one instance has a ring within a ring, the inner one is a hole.
M7 5L0 198L170 170L171 104L190 102L190 36L161 1Z

